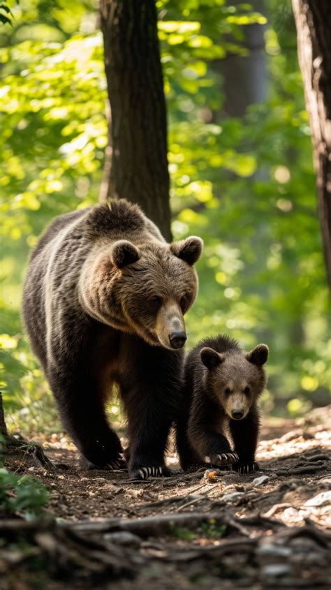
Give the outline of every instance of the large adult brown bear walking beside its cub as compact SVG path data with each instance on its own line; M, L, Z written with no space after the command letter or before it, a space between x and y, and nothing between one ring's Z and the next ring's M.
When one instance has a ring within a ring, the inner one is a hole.
M31 255L23 316L68 433L89 466L123 466L105 416L117 385L131 477L165 475L182 384L183 315L202 241L167 244L126 200L61 216ZM178 350L174 350L177 348Z

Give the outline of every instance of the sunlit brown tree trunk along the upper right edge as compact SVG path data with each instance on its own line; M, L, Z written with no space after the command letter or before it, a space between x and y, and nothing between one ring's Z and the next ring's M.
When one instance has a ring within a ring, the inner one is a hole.
M293 0L293 13L314 145L325 266L331 289L331 2Z

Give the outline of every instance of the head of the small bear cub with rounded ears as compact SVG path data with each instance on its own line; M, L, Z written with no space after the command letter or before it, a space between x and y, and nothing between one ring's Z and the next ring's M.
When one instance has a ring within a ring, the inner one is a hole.
M250 353L235 348L217 353L205 347L200 357L207 367L206 387L232 420L245 418L251 404L260 396L267 383L263 364L267 362L269 349L258 344Z

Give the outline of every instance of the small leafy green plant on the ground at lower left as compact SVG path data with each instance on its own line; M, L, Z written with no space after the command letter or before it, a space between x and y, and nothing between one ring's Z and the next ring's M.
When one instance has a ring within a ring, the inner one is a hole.
M25 517L40 515L47 501L47 489L38 480L0 468L0 517L17 512Z

